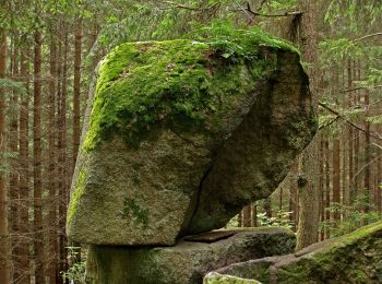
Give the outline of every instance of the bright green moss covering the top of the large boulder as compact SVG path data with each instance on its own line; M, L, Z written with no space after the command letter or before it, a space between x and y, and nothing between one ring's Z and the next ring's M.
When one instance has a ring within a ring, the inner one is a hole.
M219 121L226 111L222 96L248 93L275 68L275 56L264 47L296 51L264 32L244 29L229 40L120 45L100 66L83 149L92 151L116 133L138 147L163 128L204 132L207 117Z

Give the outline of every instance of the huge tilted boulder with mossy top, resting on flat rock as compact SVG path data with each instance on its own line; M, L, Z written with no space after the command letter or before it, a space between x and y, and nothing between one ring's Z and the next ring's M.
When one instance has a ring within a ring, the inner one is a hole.
M290 45L260 31L238 35L239 54L184 39L123 44L102 61L70 238L172 245L223 227L283 180L317 128L308 76Z

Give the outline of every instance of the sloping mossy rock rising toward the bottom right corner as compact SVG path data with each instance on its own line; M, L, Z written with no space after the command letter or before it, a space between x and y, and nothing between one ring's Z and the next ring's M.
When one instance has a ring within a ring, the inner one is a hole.
M295 255L235 263L216 272L262 283L382 283L382 222Z

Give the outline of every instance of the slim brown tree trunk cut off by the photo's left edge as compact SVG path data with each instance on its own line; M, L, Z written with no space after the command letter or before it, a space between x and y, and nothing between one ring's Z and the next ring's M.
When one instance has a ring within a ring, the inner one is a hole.
M7 70L7 36L0 27L0 79L5 78ZM5 138L5 92L0 87L0 155L7 151ZM3 159L2 159L3 161ZM3 162L1 162L3 163ZM7 214L7 188L5 173L0 171L0 283L8 284L9 274L9 246L8 246L8 214Z

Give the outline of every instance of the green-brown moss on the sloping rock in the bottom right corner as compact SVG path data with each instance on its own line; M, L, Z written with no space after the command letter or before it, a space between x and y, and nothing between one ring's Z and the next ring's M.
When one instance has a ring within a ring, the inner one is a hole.
M280 283L381 283L382 222L338 237L278 270Z

